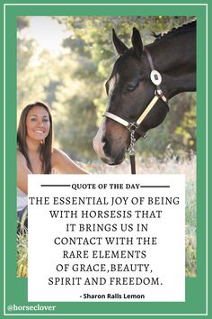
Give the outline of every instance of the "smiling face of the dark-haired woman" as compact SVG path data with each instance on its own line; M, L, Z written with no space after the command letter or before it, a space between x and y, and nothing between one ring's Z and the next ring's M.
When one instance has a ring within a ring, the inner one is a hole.
M49 113L42 106L34 106L26 118L27 137L33 141L42 141L49 134Z

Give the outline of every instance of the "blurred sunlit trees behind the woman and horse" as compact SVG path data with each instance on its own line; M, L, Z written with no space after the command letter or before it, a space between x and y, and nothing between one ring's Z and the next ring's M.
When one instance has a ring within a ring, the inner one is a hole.
M167 32L194 17L100 16L17 18L17 114L41 100L53 114L54 145L84 163L97 161L93 137L107 105L104 83L117 58L111 29L131 46L133 26L144 44L152 32ZM196 151L196 94L183 93L169 102L165 122L137 142L142 160L176 160Z

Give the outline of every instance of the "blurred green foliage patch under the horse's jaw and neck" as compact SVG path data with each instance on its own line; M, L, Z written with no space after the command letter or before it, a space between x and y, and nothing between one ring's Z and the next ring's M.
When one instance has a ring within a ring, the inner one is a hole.
M181 157L196 150L195 97L195 93L182 93L172 98L165 121L149 131L145 141L138 141L143 156L163 158L172 151L172 155Z

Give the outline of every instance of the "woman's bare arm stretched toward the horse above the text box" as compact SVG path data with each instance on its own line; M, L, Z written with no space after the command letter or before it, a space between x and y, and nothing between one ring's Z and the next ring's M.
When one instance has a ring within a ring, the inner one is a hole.
M84 169L81 169L75 164L62 150L54 149L51 160L52 168L56 169L58 174L88 174Z

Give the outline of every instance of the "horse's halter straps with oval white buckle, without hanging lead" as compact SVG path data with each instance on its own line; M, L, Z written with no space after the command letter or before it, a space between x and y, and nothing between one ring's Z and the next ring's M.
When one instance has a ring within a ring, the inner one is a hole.
M104 114L102 114L102 116L109 117L110 119L114 120L115 122L118 122L118 123L122 124L123 126L127 127L130 132L132 129L134 129L135 132L137 131L138 126L144 121L144 119L146 118L146 115L152 110L152 108L154 107L154 105L156 104L156 102L160 98L167 105L167 98L163 95L163 91L160 87L160 84L162 81L161 74L155 70L153 59L151 57L149 50L147 48L144 48L144 50L146 51L146 57L148 59L149 66L151 68L150 79L156 87L155 96L150 101L150 103L146 106L145 111L139 116L137 121L134 123L129 123L128 121L122 119L118 115L112 114L110 112L104 112ZM137 131L137 133L138 133L138 135L142 136L142 134L140 132ZM146 134L143 134L143 137L146 137Z

